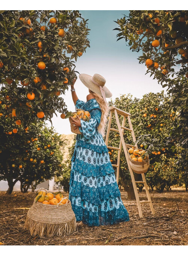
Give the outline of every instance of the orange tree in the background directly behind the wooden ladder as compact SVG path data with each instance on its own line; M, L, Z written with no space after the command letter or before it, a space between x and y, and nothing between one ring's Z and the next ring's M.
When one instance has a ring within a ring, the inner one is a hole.
M116 106L131 114L131 122L136 137L138 148L148 151L150 157L150 171L153 172L155 162L163 162L163 157L174 157L174 153L167 145L171 126L173 125L175 113L169 108L170 99L161 93L148 93L142 99L132 98L130 94L121 95L114 101L109 102L110 106ZM115 118L112 118L112 127L116 127ZM126 121L125 127L129 127ZM124 131L126 143L133 144L131 133ZM119 134L110 132L108 145L119 146ZM117 150L109 150L111 162L117 163ZM149 175L148 175L149 176ZM136 180L140 174L135 174ZM147 178L147 176L146 176ZM134 198L132 181L127 167L123 150L120 157L120 184L128 193L129 199ZM156 185L153 180L153 187ZM140 189L142 186L138 186Z

